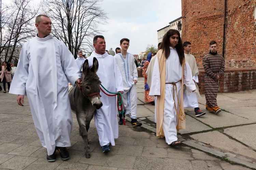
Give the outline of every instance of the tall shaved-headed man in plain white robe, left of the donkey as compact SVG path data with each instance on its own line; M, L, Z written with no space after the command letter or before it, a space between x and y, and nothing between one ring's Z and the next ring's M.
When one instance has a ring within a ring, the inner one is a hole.
M66 45L51 35L51 19L39 15L35 19L37 36L22 47L14 74L11 94L18 95L23 106L27 95L35 129L48 162L56 160L56 149L63 160L69 158L72 114L68 98L68 82L81 84L79 69Z

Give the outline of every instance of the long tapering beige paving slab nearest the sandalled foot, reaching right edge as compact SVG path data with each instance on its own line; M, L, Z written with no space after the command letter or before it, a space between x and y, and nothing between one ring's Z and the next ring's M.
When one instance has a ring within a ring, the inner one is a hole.
M190 137L226 152L240 154L254 159L256 158L255 151L217 131L195 134Z

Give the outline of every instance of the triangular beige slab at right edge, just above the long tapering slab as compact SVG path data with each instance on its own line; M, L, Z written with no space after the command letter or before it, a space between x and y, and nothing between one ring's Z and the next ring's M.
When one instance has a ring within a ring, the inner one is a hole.
M256 129L256 124L251 124L251 125L227 128L227 129L224 129L224 133L228 134L229 136L237 139L238 141L241 141L245 145L250 146L256 150L255 129Z

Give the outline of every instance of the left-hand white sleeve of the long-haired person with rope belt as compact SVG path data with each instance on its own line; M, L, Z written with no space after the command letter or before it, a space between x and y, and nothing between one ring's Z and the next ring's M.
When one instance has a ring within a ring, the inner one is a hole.
M150 88L150 96L157 96L160 95L160 72L159 72L159 64L158 64L158 57L156 56L156 60L154 63L153 71L152 71L152 81L151 81L151 88Z

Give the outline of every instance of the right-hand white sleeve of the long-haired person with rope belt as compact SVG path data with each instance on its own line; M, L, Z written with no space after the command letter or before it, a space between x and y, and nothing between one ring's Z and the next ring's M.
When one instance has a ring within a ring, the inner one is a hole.
M184 84L186 85L187 89L190 92L192 92L193 90L196 90L196 85L192 80L192 72L187 61L185 62L183 78L184 78Z

